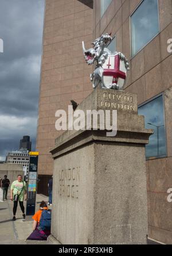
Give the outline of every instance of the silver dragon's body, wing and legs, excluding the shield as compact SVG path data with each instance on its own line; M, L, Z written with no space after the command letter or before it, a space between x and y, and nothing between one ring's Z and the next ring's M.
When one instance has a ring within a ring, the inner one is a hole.
M108 87L103 83L103 64L105 60L107 60L109 55L119 55L121 60L124 60L126 70L130 70L129 63L126 57L121 52L111 52L107 45L112 41L111 34L101 35L101 37L97 38L93 41L93 48L85 49L84 41L83 41L83 53L84 58L88 65L94 64L96 62L95 71L90 75L91 82L93 85L93 89L100 85L101 88L105 89L120 89L118 84L113 83Z

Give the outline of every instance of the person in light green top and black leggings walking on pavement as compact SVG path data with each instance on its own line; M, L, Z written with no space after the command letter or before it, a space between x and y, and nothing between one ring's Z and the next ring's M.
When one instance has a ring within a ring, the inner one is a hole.
M16 198L16 195L18 195ZM19 201L19 206L22 210L23 217L25 219L25 207L24 200L27 200L27 186L26 182L22 181L22 175L17 176L17 181L13 181L11 184L11 201L14 201L13 207L13 221L15 220L15 213L17 212L17 205Z

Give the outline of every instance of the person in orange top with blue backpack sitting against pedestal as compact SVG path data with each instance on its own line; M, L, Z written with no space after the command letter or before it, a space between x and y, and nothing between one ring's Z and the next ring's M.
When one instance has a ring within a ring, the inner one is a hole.
M50 235L51 211L48 210L46 202L42 201L33 219L33 232L27 240L46 240Z

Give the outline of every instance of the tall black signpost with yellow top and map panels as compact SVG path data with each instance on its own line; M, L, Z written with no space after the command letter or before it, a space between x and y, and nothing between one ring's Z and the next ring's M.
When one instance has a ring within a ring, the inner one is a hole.
M29 175L28 175L28 199L26 204L26 216L34 215L37 194L37 166L38 152L29 152Z

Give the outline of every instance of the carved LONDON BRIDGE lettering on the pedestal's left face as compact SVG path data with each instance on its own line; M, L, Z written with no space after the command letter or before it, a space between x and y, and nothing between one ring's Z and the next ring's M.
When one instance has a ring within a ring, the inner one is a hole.
M80 167L59 171L59 190L61 197L79 198Z

